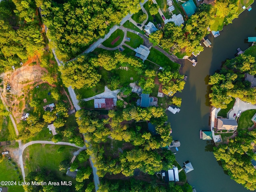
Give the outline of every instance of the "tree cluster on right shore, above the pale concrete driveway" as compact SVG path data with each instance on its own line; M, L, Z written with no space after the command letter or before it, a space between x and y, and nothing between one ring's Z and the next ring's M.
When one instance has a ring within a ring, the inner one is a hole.
M212 106L227 108L227 104L232 101L231 97L256 104L256 90L251 87L251 82L245 80L246 73L256 74L253 56L240 54L234 59L226 60L220 71L210 76L208 84L212 86L209 94Z

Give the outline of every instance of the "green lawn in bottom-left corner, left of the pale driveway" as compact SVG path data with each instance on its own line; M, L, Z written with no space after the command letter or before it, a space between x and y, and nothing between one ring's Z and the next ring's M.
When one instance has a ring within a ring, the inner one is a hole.
M20 181L20 179L18 177L21 176L21 170L18 168L18 170L15 171L14 170L15 166L14 167L11 166L11 163L8 162L7 158L5 158L0 163L0 167L1 167L1 171L0 171L0 180L1 181L16 181L16 183L17 183L17 185L6 186L6 187L8 187L8 192L24 192L22 185L18 185L18 181ZM16 174L17 171L19 172L18 175ZM23 182L23 180L22 180L22 182Z

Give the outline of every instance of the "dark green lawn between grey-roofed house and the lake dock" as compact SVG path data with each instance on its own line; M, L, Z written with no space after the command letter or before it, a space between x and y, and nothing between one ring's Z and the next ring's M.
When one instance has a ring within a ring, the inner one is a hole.
M162 67L170 66L172 71L177 71L180 69L180 64L172 62L167 56L165 56L162 52L156 50L155 48L150 49L148 60Z

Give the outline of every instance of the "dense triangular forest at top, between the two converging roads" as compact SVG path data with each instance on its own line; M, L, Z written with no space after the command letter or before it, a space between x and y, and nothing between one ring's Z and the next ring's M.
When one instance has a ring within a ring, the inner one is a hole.
M139 0L53 1L38 3L49 28L48 38L54 42L60 60L67 61L81 54L92 42L119 24L129 12L139 11Z

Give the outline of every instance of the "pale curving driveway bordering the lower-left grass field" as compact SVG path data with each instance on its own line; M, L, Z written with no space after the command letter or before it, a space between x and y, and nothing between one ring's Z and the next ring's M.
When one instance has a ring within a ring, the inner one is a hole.
M23 176L23 180L25 182L25 171L24 171L24 165L23 165L23 157L22 157L22 154L24 152L24 150L32 145L32 144L52 144L52 145L68 145L68 146L72 146L72 147L76 147L76 148L80 148L81 151L86 149L85 146L84 147L78 147L76 146L75 144L72 144L72 143L68 143L68 142L57 142L57 143L54 143L52 141L30 141L24 145L22 145L21 143L21 140L18 140L18 143L19 143L19 158L20 158L20 168L21 168L21 171L22 171L22 176ZM79 150L78 150L79 151ZM79 151L80 152L80 151ZM79 152L75 152L76 154L79 154Z

